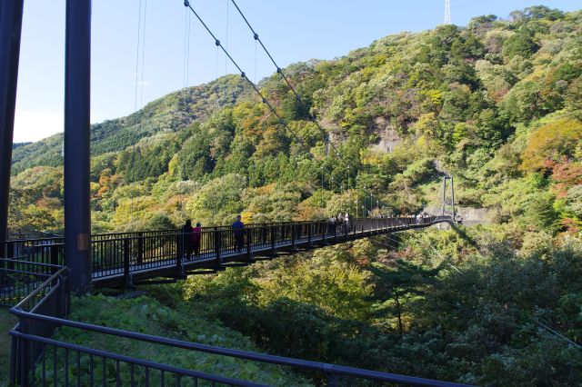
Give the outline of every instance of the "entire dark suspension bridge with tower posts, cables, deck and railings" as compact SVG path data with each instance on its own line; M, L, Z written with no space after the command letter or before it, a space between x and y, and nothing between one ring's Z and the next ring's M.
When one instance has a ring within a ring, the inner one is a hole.
M276 64L266 46L248 22L235 0L231 0L244 19L253 39L276 67L300 104L304 104L284 71ZM65 236L36 238L30 240L6 240L7 206L10 184L12 138L14 131L15 96L18 79L20 36L22 29L24 0L0 2L0 303L14 305L10 312L19 323L12 336L10 380L13 385L47 385L49 383L93 385L211 385L258 386L256 382L227 378L221 375L198 372L161 362L152 362L115 352L103 351L88 345L73 344L52 338L58 327L69 327L76 332L85 332L118 339L156 343L176 349L205 352L229 359L239 359L260 364L285 366L296 372L318 372L321 380L336 386L350 381L389 382L419 386L452 386L439 382L396 375L387 372L360 370L351 367L308 362L256 352L183 342L146 333L128 332L103 326L79 323L67 319L70 311L70 296L85 293L100 287L125 287L147 283L174 282L192 274L216 273L228 267L242 266L258 259L273 258L279 253L294 253L298 250L320 248L329 244L344 243L359 238L422 229L433 224L454 222L445 213L440 216L359 218L343 223L331 221L266 223L247 225L242 235L236 237L231 227L212 227L200 233L199 251L186 248L189 234L176 230L136 233L94 234L91 230L89 182L90 182L90 78L91 78L91 1L66 1L65 30ZM227 51L203 18L196 13L188 0L184 1L186 12L192 13L204 26L228 60L235 65L240 75L255 90L260 103L276 117L280 127L292 134L296 144L302 147L317 164L322 175L324 165L303 144L301 138L277 112L276 104L266 98L245 71ZM145 17L145 16L144 16ZM189 20L189 19L188 19ZM140 1L141 25L141 1ZM145 21L144 21L145 25ZM141 26L138 26L138 30ZM140 61L138 36L137 64ZM145 35L143 37L145 45ZM142 78L143 78L143 53ZM186 59L185 59L186 60ZM138 67L138 66L136 66ZM136 77L138 72L136 71ZM187 75L186 75L187 78ZM143 79L142 79L143 81ZM137 82L136 82L137 84ZM135 104L137 89L135 92ZM350 178L356 174L341 157L335 144L328 140L326 130L309 114L326 142L337 157L337 162L346 169L346 189ZM134 147L135 149L135 147ZM134 157L135 159L135 157ZM333 181L333 178L332 178ZM339 184L339 182L337 182ZM446 188L447 179L445 179ZM452 188L452 179L451 179ZM451 204L454 207L454 199ZM356 204L357 208L357 204ZM242 236L242 237L241 237ZM50 355L49 355L50 354ZM73 356L70 358L69 354ZM130 370L130 376L120 369ZM100 370L100 374L97 374ZM125 379L124 379L125 378ZM69 380L71 379L71 380Z

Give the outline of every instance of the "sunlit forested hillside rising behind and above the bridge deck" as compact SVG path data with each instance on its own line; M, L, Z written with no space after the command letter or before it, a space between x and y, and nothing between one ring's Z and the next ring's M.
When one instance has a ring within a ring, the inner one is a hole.
M511 21L480 16L291 65L304 103L277 74L260 88L301 145L236 75L95 124L94 230L174 227L186 217L227 223L240 212L246 222L356 213L354 189L364 185L373 207L414 213L437 203L447 172L458 203L491 209L497 223L577 232L581 22L581 12L531 7ZM62 229L61 152L60 134L15 148L13 231L23 219Z

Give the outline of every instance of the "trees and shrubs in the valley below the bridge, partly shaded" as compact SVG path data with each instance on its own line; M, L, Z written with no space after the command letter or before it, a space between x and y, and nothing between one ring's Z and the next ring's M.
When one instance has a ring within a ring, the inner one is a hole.
M476 385L579 385L582 351L541 324L580 340L582 243L536 238L407 233L152 294L277 354Z

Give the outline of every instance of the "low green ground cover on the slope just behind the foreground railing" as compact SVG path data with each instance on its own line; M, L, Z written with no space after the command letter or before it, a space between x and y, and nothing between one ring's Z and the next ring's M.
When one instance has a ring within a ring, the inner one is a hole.
M217 322L206 321L198 313L188 310L173 310L162 305L158 301L141 296L134 299L118 299L105 295L74 297L72 300L71 320L85 323L95 323L112 328L125 329L134 332L172 337L190 342L200 342L208 345L218 345L226 348L256 352L255 345L239 332L235 332L221 326ZM204 352L179 350L176 348L156 345L147 342L120 339L95 332L82 332L69 327L61 327L56 330L53 338L59 341L80 343L91 348L116 352L136 358L162 362L186 369L214 373L226 377L243 379L268 385L311 385L303 377L289 372L288 369L270 364L246 362L225 356L212 355ZM53 356L53 349L47 350L49 359ZM71 355L73 356L73 355ZM62 380L65 376L64 357L62 350L55 353L57 359L56 379ZM72 359L72 358L71 358ZM93 361L86 355L79 359L79 373L82 375L82 384L85 384L88 370L93 366L96 382L101 382L103 373L100 359ZM93 364L93 365L91 365ZM77 372L75 362L68 367L70 380L75 380ZM40 376L40 366L37 367L36 377ZM130 378L131 370L127 364L120 364L122 382ZM109 361L105 366L107 382L115 382L114 363ZM145 370L135 367L135 382L140 385L145 382ZM151 372L152 385L159 384L158 372ZM174 385L176 381L167 377L167 385ZM53 374L47 375L47 382L53 382ZM192 385L190 380L183 380L182 385ZM207 383L201 382L200 385Z

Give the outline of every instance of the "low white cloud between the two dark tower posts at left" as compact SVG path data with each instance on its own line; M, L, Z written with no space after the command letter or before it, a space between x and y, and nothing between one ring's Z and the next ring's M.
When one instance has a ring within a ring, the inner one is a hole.
M38 141L63 132L63 114L47 110L16 109L14 142Z

